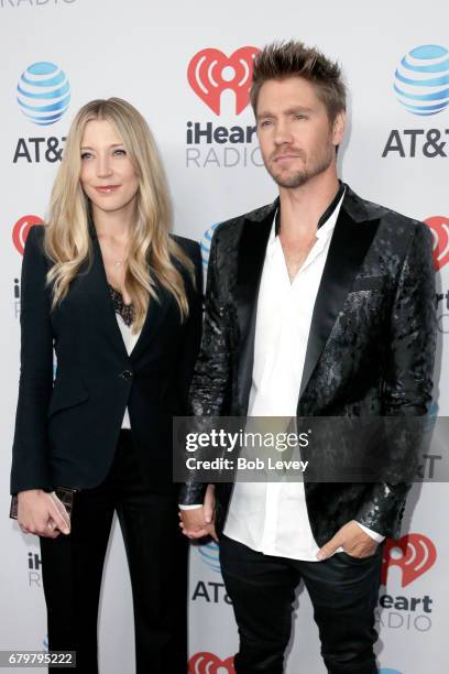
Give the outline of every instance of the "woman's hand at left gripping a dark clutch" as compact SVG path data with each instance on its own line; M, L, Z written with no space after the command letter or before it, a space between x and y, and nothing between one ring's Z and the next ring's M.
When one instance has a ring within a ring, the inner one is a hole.
M70 533L70 519L57 496L42 489L29 489L18 494L18 522L23 533L56 539Z

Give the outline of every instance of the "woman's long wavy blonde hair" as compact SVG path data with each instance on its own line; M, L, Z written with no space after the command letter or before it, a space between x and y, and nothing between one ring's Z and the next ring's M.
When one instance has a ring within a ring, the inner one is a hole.
M184 320L188 315L186 290L173 259L188 271L193 281L194 265L168 236L172 208L153 135L142 115L120 98L86 104L76 115L67 135L45 227L45 252L54 263L47 273L47 282L53 284L52 308L67 295L72 281L85 263L90 264L92 260L90 206L79 175L84 130L87 122L95 119L107 120L116 127L139 178L136 218L125 272L127 290L134 306L133 331L142 328L150 298L157 300L153 275L172 293Z

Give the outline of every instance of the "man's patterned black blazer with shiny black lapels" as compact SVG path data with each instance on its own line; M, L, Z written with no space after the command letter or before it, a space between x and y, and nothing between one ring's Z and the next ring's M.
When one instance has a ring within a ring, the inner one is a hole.
M202 346L191 384L196 415L248 412L259 284L277 205L276 199L215 231ZM347 187L314 307L298 416L426 414L435 328L428 228ZM335 453L333 446L327 450L332 448ZM196 456L200 458L199 452ZM306 481L317 543L325 544L353 519L380 534L396 535L408 488ZM200 502L204 489L193 472L180 502ZM217 483L218 530L230 494L230 485Z

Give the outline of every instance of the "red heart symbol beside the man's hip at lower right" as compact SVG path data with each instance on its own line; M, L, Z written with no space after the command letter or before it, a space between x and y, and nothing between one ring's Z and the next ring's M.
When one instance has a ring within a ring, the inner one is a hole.
M391 566L402 569L401 586L406 587L428 572L436 559L437 548L424 534L407 534L398 541L388 539L383 551L382 585L386 585Z

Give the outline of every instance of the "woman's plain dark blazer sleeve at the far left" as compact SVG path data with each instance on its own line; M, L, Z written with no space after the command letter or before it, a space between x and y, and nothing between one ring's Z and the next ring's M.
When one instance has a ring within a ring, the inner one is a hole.
M47 411L53 388L53 334L44 228L26 238L21 278L19 400L12 448L11 493L52 489Z

